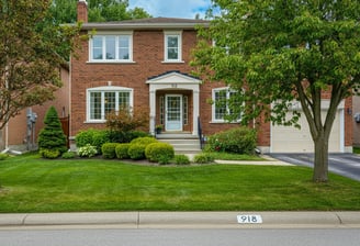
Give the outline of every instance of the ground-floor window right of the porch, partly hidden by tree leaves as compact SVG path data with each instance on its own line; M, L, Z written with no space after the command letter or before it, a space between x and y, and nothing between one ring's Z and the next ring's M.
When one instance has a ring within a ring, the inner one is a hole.
M212 121L224 123L226 122L226 116L234 114L234 110L232 109L230 104L236 104L236 97L237 92L230 90L229 88L216 88L212 91ZM240 114L237 118L237 121L240 120ZM236 121L236 122L237 122Z

